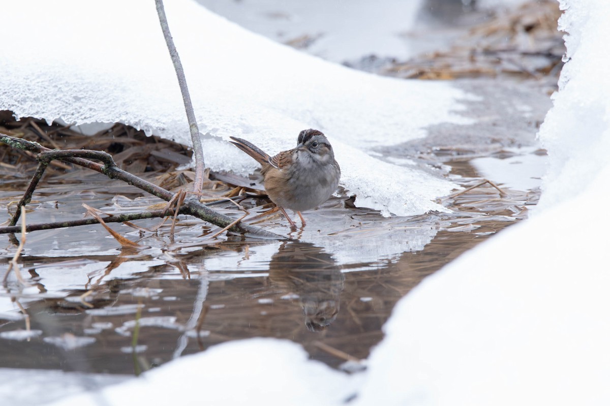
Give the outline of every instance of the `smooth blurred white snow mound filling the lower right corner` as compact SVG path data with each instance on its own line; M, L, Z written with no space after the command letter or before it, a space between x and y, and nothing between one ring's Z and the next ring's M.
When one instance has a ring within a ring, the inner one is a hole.
M610 401L606 167L578 198L511 227L398 302L354 406Z

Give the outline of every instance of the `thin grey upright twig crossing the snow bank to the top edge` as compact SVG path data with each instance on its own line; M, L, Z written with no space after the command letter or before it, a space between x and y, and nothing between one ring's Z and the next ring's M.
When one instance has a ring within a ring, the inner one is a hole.
M163 8L163 0L155 0L155 4L157 5L157 14L159 14L159 23L161 24L163 37L165 37L167 49L170 51L171 62L174 63L174 69L176 69L178 84L180 85L180 91L182 92L182 101L184 101L184 109L187 113L188 127L190 129L191 140L193 141L193 152L195 154L195 182L193 182L193 191L199 192L203 189L203 174L206 169L206 163L203 158L203 146L201 146L201 136L199 135L195 112L193 112L193 104L190 99L190 94L188 93L184 69L182 69L182 63L180 62L178 51L176 51L174 40L171 38L170 26L167 23L165 9Z

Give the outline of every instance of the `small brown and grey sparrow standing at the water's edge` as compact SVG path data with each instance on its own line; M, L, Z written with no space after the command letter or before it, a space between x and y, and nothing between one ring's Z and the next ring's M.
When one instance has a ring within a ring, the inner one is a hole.
M303 130L296 148L271 157L253 143L230 137L231 143L260 163L265 191L284 213L290 229L296 225L285 209L294 210L306 225L301 212L323 204L339 186L341 169L328 138L314 129Z

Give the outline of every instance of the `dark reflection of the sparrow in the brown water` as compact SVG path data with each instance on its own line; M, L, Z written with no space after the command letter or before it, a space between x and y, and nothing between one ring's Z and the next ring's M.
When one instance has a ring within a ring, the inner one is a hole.
M271 287L299 296L310 331L322 331L337 318L345 277L332 255L309 243L288 241L269 263Z

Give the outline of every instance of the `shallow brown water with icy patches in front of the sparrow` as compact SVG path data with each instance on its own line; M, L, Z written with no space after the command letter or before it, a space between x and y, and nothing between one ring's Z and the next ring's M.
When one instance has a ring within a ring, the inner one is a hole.
M463 173L473 171L453 164ZM79 218L83 202L109 212L157 202L134 199L127 185L120 186L124 198L112 199L107 182L91 175L85 189L41 189L27 222ZM169 224L158 232L112 225L141 249L121 250L99 225L29 233L20 265L30 287L21 289L11 274L0 293L1 367L129 375L224 341L276 337L303 344L328 365L357 369L357 360L381 340L398 299L462 252L525 218L537 201L536 191L506 191L500 198L484 185L447 199L451 214L413 218L382 218L333 198L306 213L309 234L289 234L289 241L210 238L213 229L186 217L174 238ZM3 191L0 202L18 194ZM271 216L262 226L287 233L284 223ZM15 247L0 238L4 274ZM335 242L310 242L328 240ZM354 256L358 251L368 259ZM29 315L29 333L12 299Z

